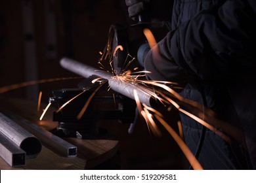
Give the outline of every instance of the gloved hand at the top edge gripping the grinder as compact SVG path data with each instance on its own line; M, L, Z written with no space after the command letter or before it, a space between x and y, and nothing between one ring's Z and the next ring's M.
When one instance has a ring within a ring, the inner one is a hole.
M146 4L150 0L125 0L125 3L128 7L129 17L135 20L137 16L145 9Z

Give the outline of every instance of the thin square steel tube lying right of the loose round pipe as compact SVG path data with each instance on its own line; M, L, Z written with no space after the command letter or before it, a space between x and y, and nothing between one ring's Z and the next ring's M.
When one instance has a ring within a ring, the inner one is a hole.
M43 144L54 151L66 157L77 156L77 147L70 144L70 142L64 141L60 137L53 135L53 133L41 128L39 125L32 124L30 121L20 116L11 115L10 118L35 135Z

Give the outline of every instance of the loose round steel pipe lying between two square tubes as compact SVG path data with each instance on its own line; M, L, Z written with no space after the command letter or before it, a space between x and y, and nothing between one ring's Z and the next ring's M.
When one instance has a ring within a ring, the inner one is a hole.
M0 132L26 152L26 158L36 158L41 152L41 142L26 129L0 112Z

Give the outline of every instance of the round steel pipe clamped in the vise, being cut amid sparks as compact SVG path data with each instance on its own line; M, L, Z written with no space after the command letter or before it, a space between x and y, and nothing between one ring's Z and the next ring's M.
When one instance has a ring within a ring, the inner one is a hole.
M105 71L99 71L94 67L79 63L78 61L70 58L62 58L60 60L60 65L64 69L72 71L73 73L83 76L85 78L89 78L89 76L92 75L105 78L106 80L108 80L108 84L112 90L121 93L131 99L135 99L134 90L136 90L140 103L152 106L152 102L154 101L154 99L152 99L152 96L148 93L143 92L143 88L138 84L131 84L131 82L114 79L113 76L110 75L110 73L106 73Z

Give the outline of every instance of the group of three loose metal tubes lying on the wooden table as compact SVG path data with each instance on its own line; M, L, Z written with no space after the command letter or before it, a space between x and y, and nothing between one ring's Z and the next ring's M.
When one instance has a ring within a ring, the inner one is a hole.
M11 167L26 165L26 159L36 158L42 144L66 157L77 156L77 147L28 120L0 112L0 156Z

